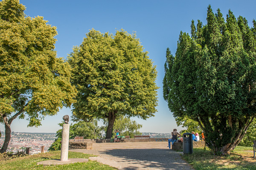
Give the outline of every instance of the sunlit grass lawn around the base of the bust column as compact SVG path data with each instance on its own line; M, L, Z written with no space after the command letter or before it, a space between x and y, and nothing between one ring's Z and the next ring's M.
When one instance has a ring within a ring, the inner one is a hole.
M68 153L68 158L88 159L90 156L93 155L77 152ZM97 161L51 166L37 165L38 161L45 161L48 159L61 159L61 151L52 151L0 161L0 170L116 170L116 168L101 164Z

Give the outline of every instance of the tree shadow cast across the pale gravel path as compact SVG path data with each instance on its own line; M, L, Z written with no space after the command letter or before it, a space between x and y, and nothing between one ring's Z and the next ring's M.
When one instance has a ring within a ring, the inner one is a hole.
M123 168L124 170L138 170L133 164L140 164L140 167L145 169L150 167L159 170L192 170L190 165L180 158L180 153L168 149L113 149L99 153L125 159L131 166Z

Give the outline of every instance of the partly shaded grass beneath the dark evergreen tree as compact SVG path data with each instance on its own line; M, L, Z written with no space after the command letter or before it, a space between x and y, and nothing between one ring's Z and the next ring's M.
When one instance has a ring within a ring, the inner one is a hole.
M253 147L237 146L227 156L215 156L204 148L194 148L193 154L183 155L195 170L256 170Z

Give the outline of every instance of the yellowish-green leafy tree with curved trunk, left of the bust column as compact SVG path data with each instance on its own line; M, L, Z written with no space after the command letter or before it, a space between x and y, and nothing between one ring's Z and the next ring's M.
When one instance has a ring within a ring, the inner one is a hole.
M0 122L5 125L5 152L14 119L28 116L39 126L58 108L71 106L76 89L70 66L56 57L56 28L43 17L26 17L18 0L0 2Z

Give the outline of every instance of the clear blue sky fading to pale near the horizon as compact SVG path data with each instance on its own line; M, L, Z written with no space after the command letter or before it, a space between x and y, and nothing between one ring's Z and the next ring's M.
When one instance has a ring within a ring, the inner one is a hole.
M163 77L166 48L175 54L180 31L190 33L191 20L206 23L207 6L216 12L218 8L226 18L231 9L236 17L241 15L252 26L256 19L255 0L20 0L30 17L43 16L48 24L57 27L58 41L55 50L58 57L67 58L74 45L80 45L89 29L115 34L123 28L137 38L149 58L157 65L158 112L147 120L131 118L142 124L140 132L171 133L178 131L167 102L163 100ZM70 108L63 108L56 116L47 116L40 127L27 127L26 119L15 119L11 129L15 132L56 132L62 117L72 115ZM102 125L99 123L99 125ZM0 124L1 131L4 125Z

